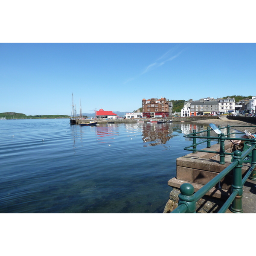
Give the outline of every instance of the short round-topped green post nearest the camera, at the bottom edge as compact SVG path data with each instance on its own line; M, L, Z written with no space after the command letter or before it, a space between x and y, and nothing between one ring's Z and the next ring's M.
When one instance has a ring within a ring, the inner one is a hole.
M180 186L178 205L185 204L187 211L185 213L196 213L196 202L194 195L194 187L189 183L183 183Z

